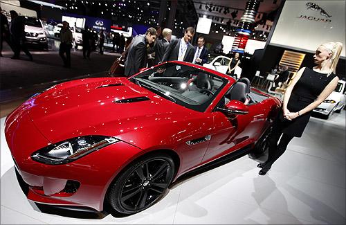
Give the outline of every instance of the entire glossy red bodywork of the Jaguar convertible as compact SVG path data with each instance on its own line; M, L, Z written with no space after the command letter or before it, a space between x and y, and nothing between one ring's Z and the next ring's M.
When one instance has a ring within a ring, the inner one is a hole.
M107 188L116 175L147 152L174 151L180 165L176 179L204 163L254 144L270 125L269 118L280 107L280 100L267 98L248 105L248 114L230 120L214 109L235 82L233 78L193 66L228 79L204 112L157 96L127 78L65 82L24 102L6 119L5 132L17 170L30 186L28 199L102 210ZM143 96L149 100L114 102ZM46 165L30 158L33 152L52 143L89 135L113 136L120 141L62 165ZM208 135L210 141L186 144ZM80 182L73 195L61 192L68 180Z

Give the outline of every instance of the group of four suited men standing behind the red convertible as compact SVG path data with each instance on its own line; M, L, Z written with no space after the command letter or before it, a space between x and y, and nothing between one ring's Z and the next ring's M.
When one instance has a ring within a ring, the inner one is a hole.
M147 64L153 66L166 61L178 60L200 65L206 63L209 50L204 46L204 37L198 37L197 46L190 43L193 37L193 27L186 28L183 37L176 39L172 39L170 28L164 28L162 32L160 27L148 28L145 35L134 37L126 48L125 75L134 75ZM154 55L154 60L150 61L148 55Z

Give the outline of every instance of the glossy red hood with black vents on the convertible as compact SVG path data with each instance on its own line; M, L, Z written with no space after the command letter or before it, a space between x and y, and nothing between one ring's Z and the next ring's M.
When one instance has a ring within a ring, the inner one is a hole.
M86 135L115 136L132 143L140 129L157 132L161 126L201 114L126 78L57 84L28 102L31 120L51 143Z

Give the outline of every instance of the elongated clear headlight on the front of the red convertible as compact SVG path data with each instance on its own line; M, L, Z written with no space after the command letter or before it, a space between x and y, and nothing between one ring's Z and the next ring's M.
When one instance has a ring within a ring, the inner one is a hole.
M111 136L80 136L61 141L34 152L31 159L45 164L60 165L75 161L119 140Z

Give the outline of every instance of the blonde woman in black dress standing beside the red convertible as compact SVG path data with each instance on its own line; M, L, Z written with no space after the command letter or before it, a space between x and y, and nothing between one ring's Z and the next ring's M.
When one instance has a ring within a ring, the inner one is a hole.
M271 165L284 153L293 137L301 137L311 111L318 107L338 84L335 74L343 44L328 42L318 46L313 61L313 69L302 68L293 78L284 93L282 110L273 123L273 131L268 137L268 160L257 165L264 175ZM281 139L280 139L281 137ZM280 139L280 143L277 142Z

